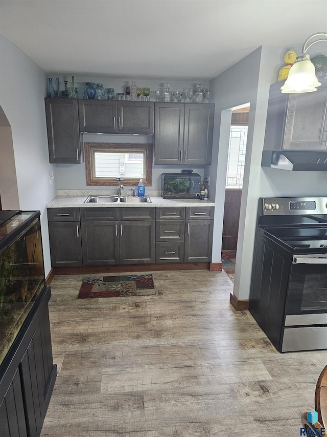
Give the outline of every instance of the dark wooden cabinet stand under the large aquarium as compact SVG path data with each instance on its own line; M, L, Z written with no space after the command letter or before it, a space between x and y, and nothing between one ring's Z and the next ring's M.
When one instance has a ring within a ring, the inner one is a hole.
M1 437L38 437L57 376L46 287L0 367Z

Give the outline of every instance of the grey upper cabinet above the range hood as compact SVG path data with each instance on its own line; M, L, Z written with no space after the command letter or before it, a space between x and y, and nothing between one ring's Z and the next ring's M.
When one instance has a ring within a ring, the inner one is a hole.
M270 86L264 150L326 150L327 90L284 94Z

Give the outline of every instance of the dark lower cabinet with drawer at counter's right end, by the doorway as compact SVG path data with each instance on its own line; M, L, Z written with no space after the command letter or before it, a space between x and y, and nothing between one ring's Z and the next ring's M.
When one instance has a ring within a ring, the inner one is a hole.
M213 246L214 207L186 208L185 262L210 262Z

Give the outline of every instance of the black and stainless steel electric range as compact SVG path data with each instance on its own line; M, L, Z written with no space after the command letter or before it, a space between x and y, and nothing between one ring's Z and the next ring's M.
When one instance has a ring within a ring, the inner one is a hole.
M259 199L249 310L280 352L327 349L327 197Z

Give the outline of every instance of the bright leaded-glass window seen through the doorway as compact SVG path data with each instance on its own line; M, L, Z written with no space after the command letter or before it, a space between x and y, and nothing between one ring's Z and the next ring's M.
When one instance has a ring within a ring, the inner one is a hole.
M247 128L245 125L230 127L226 188L242 189Z

